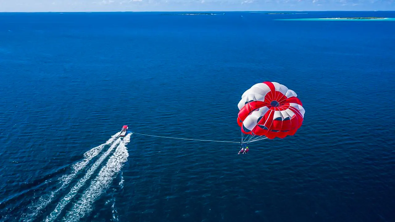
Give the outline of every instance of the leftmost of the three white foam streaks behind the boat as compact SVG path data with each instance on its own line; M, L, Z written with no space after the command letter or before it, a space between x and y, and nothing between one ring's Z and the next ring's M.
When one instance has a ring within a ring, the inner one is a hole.
M58 192L63 190L75 178L75 176L77 176L77 174L88 165L90 160L96 157L103 150L103 148L106 145L113 143L114 140L119 136L119 134L120 132L118 132L115 135L112 135L111 138L108 139L105 143L85 152L84 159L71 166L72 169L71 173L60 177L59 180L60 182L62 182L62 185L55 191L51 192L51 194L41 196L36 203L34 203L31 207L29 207L29 209L32 210L33 212L28 214L28 216L26 216L26 218L24 218L24 220L22 221L27 221L27 222L33 221L36 218L36 216L40 213L40 211L43 208L47 207L47 205L53 201L53 199L56 197Z

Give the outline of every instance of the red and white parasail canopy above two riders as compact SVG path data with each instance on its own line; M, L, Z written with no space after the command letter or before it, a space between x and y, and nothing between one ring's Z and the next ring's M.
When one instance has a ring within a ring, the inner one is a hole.
M238 107L242 142L294 135L305 116L297 94L276 82L253 85L243 93Z

